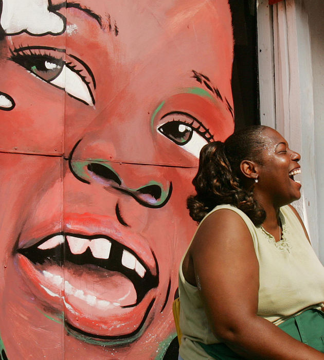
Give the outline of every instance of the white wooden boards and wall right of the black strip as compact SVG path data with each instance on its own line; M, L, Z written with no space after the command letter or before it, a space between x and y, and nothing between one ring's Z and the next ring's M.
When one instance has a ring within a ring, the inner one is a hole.
M324 263L323 19L323 0L258 2L261 123L301 153L302 196L294 206Z

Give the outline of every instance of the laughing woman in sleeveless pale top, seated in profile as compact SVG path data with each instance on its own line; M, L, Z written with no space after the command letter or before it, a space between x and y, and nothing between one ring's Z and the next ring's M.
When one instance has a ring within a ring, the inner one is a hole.
M179 271L185 360L324 359L324 268L289 205L299 160L263 126L203 148Z

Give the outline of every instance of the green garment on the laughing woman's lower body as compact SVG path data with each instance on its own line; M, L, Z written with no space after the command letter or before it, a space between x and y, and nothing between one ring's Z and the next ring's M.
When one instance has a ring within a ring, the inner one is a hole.
M278 328L304 344L324 353L324 313L310 309L282 322ZM243 359L225 344L199 343L209 356L218 360Z

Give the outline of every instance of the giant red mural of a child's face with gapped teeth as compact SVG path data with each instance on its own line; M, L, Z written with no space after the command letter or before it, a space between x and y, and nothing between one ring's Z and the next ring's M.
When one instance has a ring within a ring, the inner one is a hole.
M233 131L228 3L0 5L4 351L163 358L197 157Z

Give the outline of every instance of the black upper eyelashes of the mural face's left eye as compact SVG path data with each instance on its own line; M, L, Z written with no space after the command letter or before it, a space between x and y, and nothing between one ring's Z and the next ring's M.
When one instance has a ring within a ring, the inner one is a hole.
M24 48L24 50L21 50L22 48ZM18 48L14 47L9 48L9 51L11 53L11 57L9 58L9 60L12 60L13 62L15 62L16 64L19 64L21 66L24 66L24 61L27 58L37 58L37 57L47 57L47 59L49 61L53 61L56 64L62 64L67 66L68 68L70 68L71 70L73 70L75 73L78 74L78 76L80 76L80 78L82 79L82 81L84 81L85 84L89 85L90 81L87 80L87 77L84 76L82 73L82 71L84 69L78 69L76 64L73 64L71 61L65 61L63 60L63 58L57 58L55 56L53 56L50 52L46 52L45 49L32 49L32 48L28 48L27 47L23 47L20 46ZM52 51L57 51L57 49L53 48ZM27 69L27 71L30 72L30 70Z

